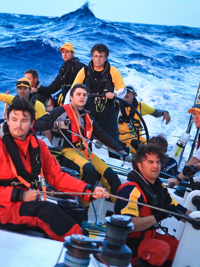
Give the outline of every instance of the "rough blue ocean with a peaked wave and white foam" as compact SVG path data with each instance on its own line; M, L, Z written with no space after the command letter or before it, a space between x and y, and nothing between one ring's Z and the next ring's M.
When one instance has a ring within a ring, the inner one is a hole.
M200 28L110 22L96 18L86 3L60 18L0 13L0 30L0 92L16 94L16 80L29 68L38 71L43 85L50 84L62 65L58 50L65 42L86 64L91 47L101 42L138 99L175 116L165 125L146 115L149 131L180 136L186 130L200 80ZM3 107L0 103L1 112ZM176 140L168 136L170 148Z

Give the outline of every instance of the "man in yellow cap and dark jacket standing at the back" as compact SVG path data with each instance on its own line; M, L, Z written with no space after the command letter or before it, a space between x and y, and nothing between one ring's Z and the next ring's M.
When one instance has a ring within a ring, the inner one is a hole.
M74 47L71 43L66 42L59 49L62 54L64 63L59 69L59 73L54 81L49 86L41 86L40 88L32 88L32 92L40 94L54 94L62 89L56 96L54 96L54 107L59 107L64 104L65 96L70 90L71 85L76 78L78 72L86 65L79 61L78 57L74 57Z

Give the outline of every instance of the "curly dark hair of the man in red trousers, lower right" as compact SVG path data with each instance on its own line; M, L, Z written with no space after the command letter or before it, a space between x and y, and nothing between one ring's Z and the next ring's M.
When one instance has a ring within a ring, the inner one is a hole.
M157 157L161 161L161 166L165 166L168 158L165 155L165 153L158 147L158 145L154 144L147 144L147 145L139 145L137 152L133 156L132 165L133 168L138 170L137 163L142 162L143 159L146 159L146 154L151 155L157 155Z

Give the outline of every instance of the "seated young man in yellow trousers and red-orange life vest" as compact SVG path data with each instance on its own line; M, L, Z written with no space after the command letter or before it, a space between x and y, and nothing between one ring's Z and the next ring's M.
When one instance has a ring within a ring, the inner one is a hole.
M89 115L89 112L83 108L87 97L87 87L83 84L75 84L70 91L71 103L56 107L42 116L34 124L34 130L53 130L52 145L62 149L64 156L62 165L79 172L79 179L89 184L95 185L97 180L101 181L107 191L115 195L121 184L117 174L90 151L91 144L86 142L84 137L90 139L91 135L94 135L100 142L121 154L121 160L130 162L132 157L124 151L122 146L119 146L108 136L98 126L95 119ZM58 128L63 131L65 137ZM115 202L114 198L111 198L111 200ZM82 199L80 201L87 207L85 211L85 220L87 220L89 204Z

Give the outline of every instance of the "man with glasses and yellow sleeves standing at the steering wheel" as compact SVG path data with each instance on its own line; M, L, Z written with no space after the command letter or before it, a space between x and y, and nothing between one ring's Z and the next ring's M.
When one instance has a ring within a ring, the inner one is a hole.
M89 95L105 94L106 98L88 98L86 110L96 119L98 125L120 144L118 136L117 114L113 97L123 98L126 88L119 71L111 66L107 60L109 49L104 44L95 44L90 55L88 66L82 68L77 74L74 83L83 83L89 89ZM68 92L65 104L70 103Z

